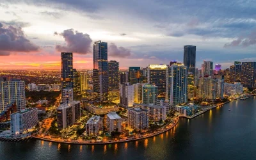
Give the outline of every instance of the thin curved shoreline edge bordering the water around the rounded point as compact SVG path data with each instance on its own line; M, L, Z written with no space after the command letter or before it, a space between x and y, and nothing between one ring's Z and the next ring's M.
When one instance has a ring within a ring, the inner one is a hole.
M129 141L143 140L143 139L146 139L146 138L151 138L151 137L154 137L154 136L158 136L159 134L167 132L170 129L172 129L173 127L175 127L175 125L177 125L178 122L179 122L179 117L177 118L175 124L173 124L171 127L168 127L166 129L164 129L163 131L155 131L156 132L155 134L150 134L150 135L145 136L145 137L143 135L143 137L136 138L136 139L134 138L134 139L131 139L131 140L118 140L118 141L92 142L92 143L89 142L88 143L88 142L83 142L83 141L79 142L77 140L76 141L58 141L58 140L51 140L51 139L48 139L48 138L39 138L39 137L36 137L36 136L33 136L33 138L35 138L37 140L42 140L42 141L50 141L50 142L55 142L55 143L66 143L66 144L73 144L73 145L106 145L106 144L113 144L113 143L124 143L124 142L129 142ZM168 125L170 125L170 124L164 125L160 129L163 129L164 127L166 127Z

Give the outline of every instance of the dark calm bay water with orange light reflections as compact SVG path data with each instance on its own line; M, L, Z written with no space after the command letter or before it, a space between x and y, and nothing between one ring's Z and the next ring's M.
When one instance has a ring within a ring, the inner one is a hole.
M228 111L231 109L231 111ZM0 142L0 159L256 159L256 97L234 100L154 138L111 145Z

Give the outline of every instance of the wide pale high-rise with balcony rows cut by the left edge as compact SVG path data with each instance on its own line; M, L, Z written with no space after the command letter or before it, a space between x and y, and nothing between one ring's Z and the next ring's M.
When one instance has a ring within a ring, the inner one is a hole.
M25 82L19 79L6 81L0 77L0 113L13 104L16 105L17 111L25 109Z

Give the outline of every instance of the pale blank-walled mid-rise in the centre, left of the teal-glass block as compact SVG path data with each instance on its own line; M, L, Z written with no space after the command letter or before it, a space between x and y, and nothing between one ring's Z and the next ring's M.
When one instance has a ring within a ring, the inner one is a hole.
M134 102L134 86L131 83L120 84L120 104L125 107L132 107Z

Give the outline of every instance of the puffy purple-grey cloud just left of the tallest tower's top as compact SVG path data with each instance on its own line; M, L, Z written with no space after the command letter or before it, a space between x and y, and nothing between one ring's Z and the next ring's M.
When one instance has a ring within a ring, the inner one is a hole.
M75 52L79 54L90 53L92 39L90 35L74 31L74 29L67 29L63 33L56 33L54 35L61 35L65 38L66 45L56 45L55 49L59 52Z

